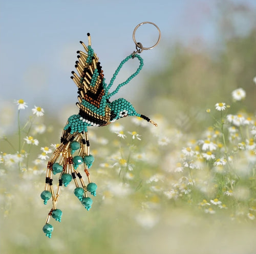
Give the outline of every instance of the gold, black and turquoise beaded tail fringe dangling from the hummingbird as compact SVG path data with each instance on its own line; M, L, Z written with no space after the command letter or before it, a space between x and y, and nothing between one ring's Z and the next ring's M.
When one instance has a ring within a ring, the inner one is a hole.
M75 153L77 155L74 156ZM93 200L88 196L88 192L95 196L97 189L97 185L91 182L88 170L91 168L93 161L94 157L90 155L88 132L70 134L68 131L63 131L61 144L55 149L48 162L45 189L41 193L45 205L47 205L49 199L52 199L52 208L47 216L46 224L42 228L49 238L51 238L53 231L53 226L49 223L50 218L53 217L55 220L61 221L62 211L57 209L57 202L63 185L67 187L73 179L75 196L88 211L90 210ZM88 179L87 185L78 171L78 166L82 164ZM53 175L55 174L59 174L56 192L53 189ZM77 177L79 180L77 180Z

